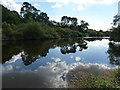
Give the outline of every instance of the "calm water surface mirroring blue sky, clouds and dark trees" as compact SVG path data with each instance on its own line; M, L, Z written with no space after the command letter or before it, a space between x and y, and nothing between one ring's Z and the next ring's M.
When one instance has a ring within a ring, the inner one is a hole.
M108 39L4 41L2 54L3 88L66 87L66 74L78 65L120 65L120 45Z

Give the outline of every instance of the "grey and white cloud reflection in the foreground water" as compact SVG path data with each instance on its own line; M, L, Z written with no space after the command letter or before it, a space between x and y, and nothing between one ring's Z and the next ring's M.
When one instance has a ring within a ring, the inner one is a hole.
M61 88L67 87L66 75L76 67L87 68L94 72L114 69L104 64L83 64L80 62L67 65L63 62L47 63L35 70L14 71L11 64L2 67L4 88ZM21 67L19 67L21 68Z

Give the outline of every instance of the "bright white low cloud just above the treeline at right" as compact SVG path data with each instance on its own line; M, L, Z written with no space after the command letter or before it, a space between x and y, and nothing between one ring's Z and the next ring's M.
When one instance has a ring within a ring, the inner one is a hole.
M76 8L75 8L76 10ZM51 17L50 19L51 20L55 20L57 22L60 22L61 21L61 17L62 16L69 16L67 14L65 15L59 15L59 16L56 16L56 17ZM74 16L70 16L70 17L74 17ZM77 17L77 16L76 16ZM110 20L108 22L102 22L102 21L96 21L96 18L92 17L92 16L80 16L80 17L77 17L78 18L78 24L80 24L80 21L81 20L85 20L86 22L89 23L89 28L90 29L95 29L97 31L99 31L100 29L103 30L103 31L107 31L111 28L111 23L110 21L112 22L112 18L110 18Z

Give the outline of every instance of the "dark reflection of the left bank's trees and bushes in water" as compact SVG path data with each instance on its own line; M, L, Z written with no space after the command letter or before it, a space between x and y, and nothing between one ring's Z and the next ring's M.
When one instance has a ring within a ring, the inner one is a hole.
M61 53L75 53L77 47L80 51L87 49L87 43L83 39L45 40L45 41L19 41L3 42L2 63L10 60L13 55L21 53L24 65L30 65L41 57L47 56L51 48L61 47Z

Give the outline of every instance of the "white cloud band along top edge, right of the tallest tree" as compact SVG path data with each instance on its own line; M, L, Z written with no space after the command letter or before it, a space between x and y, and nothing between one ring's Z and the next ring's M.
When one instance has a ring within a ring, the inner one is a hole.
M48 0L48 2L56 3L52 7L62 7L63 5L66 5L68 3L70 4L77 4L75 8L73 8L73 11L77 10L84 10L87 8L84 5L92 5L92 4L112 4L114 2L118 2L119 0ZM61 5L63 4L63 5Z

